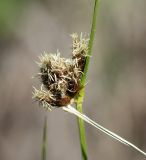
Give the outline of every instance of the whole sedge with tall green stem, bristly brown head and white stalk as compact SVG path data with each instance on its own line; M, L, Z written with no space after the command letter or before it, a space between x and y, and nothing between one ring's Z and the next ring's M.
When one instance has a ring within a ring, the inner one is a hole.
M74 114L79 118L78 126L82 160L88 159L84 121L113 139L146 156L146 153L137 146L106 129L82 113L87 71L96 31L98 6L99 0L95 0L90 38L82 33L80 35L77 33L71 35L73 41L72 58L62 58L59 51L55 54L44 53L39 57L40 60L37 64L40 72L38 73L38 76L40 77L42 84L40 89L34 87L33 98L47 110L62 108L63 111ZM73 107L74 104L76 104L75 108ZM46 135L45 133L46 130L44 130L44 135ZM45 155L46 150L44 149L42 151L42 155ZM43 160L45 160L45 158Z

